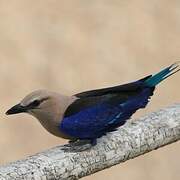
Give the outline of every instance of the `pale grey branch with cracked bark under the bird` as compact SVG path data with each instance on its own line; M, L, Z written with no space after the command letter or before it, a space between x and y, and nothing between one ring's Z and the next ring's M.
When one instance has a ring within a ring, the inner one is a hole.
M83 152L63 146L0 167L1 180L79 179L180 139L180 104L129 121Z

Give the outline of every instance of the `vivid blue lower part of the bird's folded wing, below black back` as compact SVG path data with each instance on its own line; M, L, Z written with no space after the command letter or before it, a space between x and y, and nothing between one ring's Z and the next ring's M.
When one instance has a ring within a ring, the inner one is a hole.
M60 129L79 139L95 139L123 125L139 108L148 103L152 89L146 88L125 102L103 101L78 113L64 117Z

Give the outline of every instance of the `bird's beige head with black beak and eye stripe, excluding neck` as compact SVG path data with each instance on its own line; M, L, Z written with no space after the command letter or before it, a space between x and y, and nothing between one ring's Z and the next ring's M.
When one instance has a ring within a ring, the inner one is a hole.
M60 111L59 94L46 90L38 90L27 95L20 103L9 109L6 114L28 113L39 120L58 114ZM50 118L50 117L49 117Z

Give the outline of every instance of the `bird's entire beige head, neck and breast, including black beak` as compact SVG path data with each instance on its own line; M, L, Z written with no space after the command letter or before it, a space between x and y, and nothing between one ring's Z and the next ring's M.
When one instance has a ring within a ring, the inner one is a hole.
M66 108L76 99L55 92L38 90L27 95L20 103L9 109L6 114L28 113L36 117L50 133L68 138L59 131Z

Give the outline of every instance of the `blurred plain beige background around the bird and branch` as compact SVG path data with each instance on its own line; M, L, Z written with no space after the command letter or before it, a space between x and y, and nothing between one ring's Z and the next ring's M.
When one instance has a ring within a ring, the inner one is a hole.
M4 112L27 93L73 94L136 80L180 58L178 0L0 0L0 163L65 143ZM179 102L180 74L134 117ZM85 180L179 180L177 142Z

